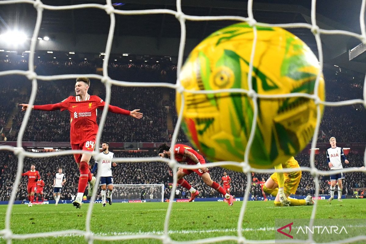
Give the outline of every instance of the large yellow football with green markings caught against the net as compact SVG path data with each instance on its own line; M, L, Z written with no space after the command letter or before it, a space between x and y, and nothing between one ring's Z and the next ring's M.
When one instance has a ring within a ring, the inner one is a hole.
M190 91L245 89L253 28L238 23L214 32L190 53L179 79L184 91L182 128L199 153L212 161L244 161L253 100L244 93L193 94ZM258 94L314 94L317 57L298 37L279 27L257 27L251 84ZM321 75L318 97L324 101ZM181 94L176 95L179 113ZM271 168L299 153L316 127L317 106L304 97L258 98L249 164ZM323 106L321 105L321 113ZM239 170L239 166L227 167Z

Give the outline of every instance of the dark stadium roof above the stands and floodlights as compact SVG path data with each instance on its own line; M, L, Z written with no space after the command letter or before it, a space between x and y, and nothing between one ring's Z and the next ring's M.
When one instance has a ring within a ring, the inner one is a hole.
M171 9L176 10L175 0L117 0L112 1L118 10ZM104 0L43 0L48 5L73 5L82 3L105 4ZM322 29L340 29L361 33L359 11L361 2L341 0L317 2L317 25ZM254 0L253 14L257 22L264 23L311 23L311 1ZM219 16L234 15L247 17L247 2L239 0L184 0L182 11L187 15ZM36 22L36 9L32 4L1 5L0 31L6 28L23 27L31 35ZM101 52L104 50L110 18L104 10L84 8L78 10L44 10L40 36L49 35L51 40L64 42L65 51ZM231 20L186 21L186 55L199 41L224 26L235 23ZM317 54L314 35L309 29L288 29L310 46ZM115 53L135 53L139 55L178 55L180 24L173 15L116 15ZM366 72L362 59L349 61L348 50L360 43L356 38L341 35L321 35L324 61L333 66L361 73ZM81 41L83 40L83 41ZM93 40L87 42L84 40ZM97 41L95 41L97 40ZM98 42L100 41L100 42ZM67 44L65 44L67 42ZM62 46L62 45L61 45ZM87 48L89 46L89 48ZM0 46L1 48L1 46ZM46 49L57 50L57 45ZM42 49L42 48L40 48ZM67 50L70 49L70 50ZM63 49L60 49L63 50Z

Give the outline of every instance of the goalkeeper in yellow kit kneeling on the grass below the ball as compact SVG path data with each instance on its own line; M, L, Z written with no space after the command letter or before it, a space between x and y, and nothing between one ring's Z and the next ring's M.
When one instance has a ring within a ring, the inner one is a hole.
M275 166L276 170L300 168L298 161L291 157L283 164ZM301 179L301 170L288 173L273 173L264 183L263 191L276 196L274 201L276 207L280 206L301 206L313 205L313 198L308 195L306 199L290 198L291 194L295 194Z

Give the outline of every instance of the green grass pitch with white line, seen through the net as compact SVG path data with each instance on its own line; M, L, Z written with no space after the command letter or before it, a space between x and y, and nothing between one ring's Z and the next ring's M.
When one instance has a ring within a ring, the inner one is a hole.
M188 241L218 236L236 236L242 202L228 206L224 202L173 203L169 224L172 240ZM318 202L316 218L351 219L366 216L365 199L344 199L342 203L333 200ZM0 206L0 229L4 229L7 206ZM50 232L68 229L85 230L88 204L75 209L72 204L15 205L11 216L14 234ZM91 230L100 236L158 234L164 229L168 203L113 203L102 207L95 204L91 218ZM247 204L242 233L246 239L265 240L275 238L276 218L309 219L312 206L274 207L272 201ZM13 243L87 243L83 236L66 234L57 237L13 240ZM6 243L0 239L0 243ZM94 243L105 243L95 240ZM156 239L108 241L108 243L161 243ZM224 241L222 243L236 243Z

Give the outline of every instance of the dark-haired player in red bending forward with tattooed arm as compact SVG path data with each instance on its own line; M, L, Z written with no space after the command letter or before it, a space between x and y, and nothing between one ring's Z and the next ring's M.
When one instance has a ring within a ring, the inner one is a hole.
M160 157L164 158L170 158L171 149L167 144L161 145L157 152ZM205 159L202 157L201 154L197 153L195 150L192 149L192 147L184 145L184 144L175 144L174 147L174 157L175 160L178 162L187 162L187 164L190 165L203 165L205 164ZM192 202L194 198L199 194L199 191L194 189L186 180L183 179L184 176L187 174L190 174L192 172L197 173L199 176L201 176L201 179L203 182L208 185L209 187L212 187L216 191L223 194L223 196L228 200L229 206L233 204L233 197L228 194L217 182L213 181L211 179L211 176L209 174L209 170L206 167L202 167L200 169L181 169L179 168L177 174L178 174L178 184L182 185L182 187L188 189L188 191L191 192L191 198L188 200L188 202Z

